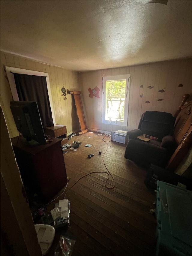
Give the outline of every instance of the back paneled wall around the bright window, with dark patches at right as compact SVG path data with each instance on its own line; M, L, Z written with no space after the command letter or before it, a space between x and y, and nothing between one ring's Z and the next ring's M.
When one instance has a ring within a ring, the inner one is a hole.
M102 76L131 74L128 126L102 124ZM174 114L184 93L192 99L192 59L90 71L80 74L82 101L90 130L117 131L138 127L146 110ZM88 88L100 89L100 98L90 98Z

